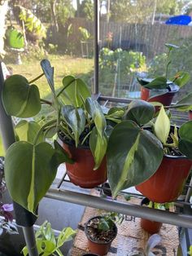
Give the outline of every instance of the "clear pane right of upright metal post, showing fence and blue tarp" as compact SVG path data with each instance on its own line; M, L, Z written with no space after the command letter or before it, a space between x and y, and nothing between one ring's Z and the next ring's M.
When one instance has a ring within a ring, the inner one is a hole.
M188 1L189 2L189 1ZM191 73L192 27L187 1L107 0L100 7L99 90L103 95L140 98L137 77ZM168 59L165 43L180 46ZM189 84L189 82L188 82ZM174 100L184 95L184 86Z

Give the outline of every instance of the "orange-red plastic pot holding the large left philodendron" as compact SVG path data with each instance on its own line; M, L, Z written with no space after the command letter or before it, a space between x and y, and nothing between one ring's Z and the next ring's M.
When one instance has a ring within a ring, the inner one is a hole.
M63 148L75 161L74 164L66 163L68 177L72 183L81 188L94 188L107 180L107 161L103 158L101 166L94 170L94 157L89 148L76 148L63 143Z

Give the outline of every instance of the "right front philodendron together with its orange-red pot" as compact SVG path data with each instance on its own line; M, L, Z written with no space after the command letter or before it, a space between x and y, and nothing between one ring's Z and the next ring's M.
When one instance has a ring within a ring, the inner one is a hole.
M158 203L181 194L192 165L192 121L171 127L163 106L154 114L152 104L134 100L111 132L107 171L113 197L133 186Z

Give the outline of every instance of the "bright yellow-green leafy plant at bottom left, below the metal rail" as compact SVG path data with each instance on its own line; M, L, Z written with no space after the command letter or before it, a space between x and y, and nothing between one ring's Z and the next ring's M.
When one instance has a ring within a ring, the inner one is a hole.
M76 235L76 231L72 227L64 227L59 233L59 236L55 237L55 232L51 228L48 221L45 221L41 227L35 233L37 251L39 255L59 255L62 256L60 247L67 241L71 241ZM24 246L22 249L24 256L28 255L28 248Z

